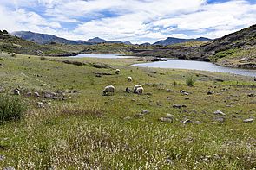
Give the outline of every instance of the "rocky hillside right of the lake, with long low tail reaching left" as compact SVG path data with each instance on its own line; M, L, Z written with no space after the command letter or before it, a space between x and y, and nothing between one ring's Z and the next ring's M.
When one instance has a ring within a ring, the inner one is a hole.
M201 46L154 47L150 50L134 50L134 54L205 60L221 66L256 69L256 25L203 43Z

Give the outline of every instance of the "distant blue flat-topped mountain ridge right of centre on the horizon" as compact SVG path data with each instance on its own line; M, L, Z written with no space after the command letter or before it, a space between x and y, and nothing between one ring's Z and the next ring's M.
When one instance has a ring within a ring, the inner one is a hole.
M181 38L168 37L166 40L157 41L153 45L168 46L172 44L189 42L189 41L212 41L212 40L205 37L200 37L197 39L181 39Z

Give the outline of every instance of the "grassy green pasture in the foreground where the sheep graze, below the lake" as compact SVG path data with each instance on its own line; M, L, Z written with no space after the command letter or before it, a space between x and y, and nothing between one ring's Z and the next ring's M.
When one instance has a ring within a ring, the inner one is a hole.
M137 68L130 66L138 62L134 59L77 59L82 66L63 63L67 58L40 60L21 54L1 54L1 59L0 86L9 93L19 87L29 107L20 121L0 124L2 168L256 167L255 120L243 122L256 116L256 98L248 97L256 94L253 78ZM109 67L95 68L91 63ZM121 70L118 75L116 68ZM111 75L96 77L102 73ZM186 85L191 75L196 78L192 87ZM115 86L115 95L102 96L109 84ZM143 85L144 94L124 92L137 84ZM67 100L42 98L44 92L57 90L65 91ZM69 92L74 90L81 92ZM26 97L28 91L38 91L41 97ZM174 104L187 107L176 109ZM141 110L149 113L138 116ZM216 110L226 116L213 114ZM159 121L167 113L174 116L173 123Z

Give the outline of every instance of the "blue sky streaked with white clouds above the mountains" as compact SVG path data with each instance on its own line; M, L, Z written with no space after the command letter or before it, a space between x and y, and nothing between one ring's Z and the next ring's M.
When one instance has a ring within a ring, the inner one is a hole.
M256 0L0 0L0 21L69 40L213 39L256 24Z

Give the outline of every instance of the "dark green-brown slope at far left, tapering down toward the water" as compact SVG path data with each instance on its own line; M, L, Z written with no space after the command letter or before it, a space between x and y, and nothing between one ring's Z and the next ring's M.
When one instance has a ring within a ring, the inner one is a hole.
M17 54L70 55L68 52L44 47L31 41L25 41L8 33L0 32L0 51Z

